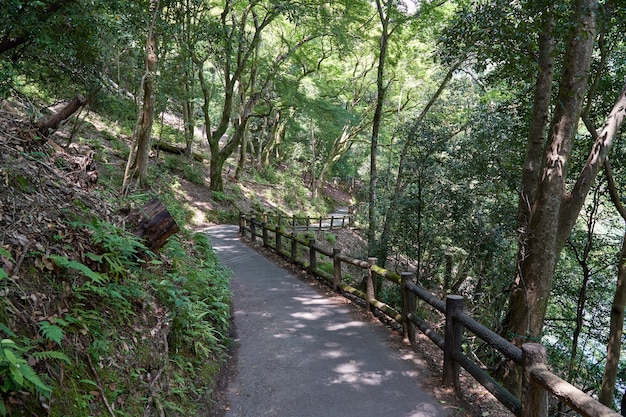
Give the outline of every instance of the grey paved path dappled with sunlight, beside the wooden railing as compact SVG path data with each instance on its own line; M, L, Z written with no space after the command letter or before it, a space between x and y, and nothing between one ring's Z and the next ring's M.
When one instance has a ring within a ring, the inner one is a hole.
M241 243L236 226L207 233L234 272L238 363L226 417L452 415L420 389L428 370L387 329Z

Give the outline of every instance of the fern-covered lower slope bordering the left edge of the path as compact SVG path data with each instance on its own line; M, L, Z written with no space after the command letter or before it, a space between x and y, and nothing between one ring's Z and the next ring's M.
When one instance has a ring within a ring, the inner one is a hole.
M206 235L179 233L155 255L113 224L70 226L89 236L82 258L32 250L28 281L0 268L0 415L210 407L229 343L230 273ZM12 265L16 253L0 256Z

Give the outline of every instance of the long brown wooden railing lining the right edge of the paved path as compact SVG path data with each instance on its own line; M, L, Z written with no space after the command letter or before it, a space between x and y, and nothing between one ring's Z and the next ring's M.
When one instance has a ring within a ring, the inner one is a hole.
M415 330L419 329L443 350L442 382L444 386L460 388L459 371L462 367L516 416L548 416L548 395L552 395L583 417L620 417L620 414L550 372L544 346L526 343L520 349L467 315L463 311L463 297L461 296L449 295L445 301L442 301L416 285L411 272L397 274L377 266L376 258L363 261L342 255L339 249L329 251L317 245L315 239L297 236L295 230L287 230L284 226L268 225L265 221L258 221L244 214L240 217L239 232L243 237L249 235L252 241L261 238L263 246L276 251L292 263L303 266L311 274L325 280L335 291L343 291L360 298L367 311L377 310L395 320L402 326L403 336L410 341L412 346L416 345ZM305 250L303 251L301 247ZM317 268L318 254L332 259L332 275ZM342 263L367 271L365 292L343 282ZM374 283L377 276L399 287L402 294L401 311L376 299ZM417 316L417 299L424 301L445 316L443 336ZM472 332L522 367L521 398L518 399L511 394L463 353L462 338L465 330Z

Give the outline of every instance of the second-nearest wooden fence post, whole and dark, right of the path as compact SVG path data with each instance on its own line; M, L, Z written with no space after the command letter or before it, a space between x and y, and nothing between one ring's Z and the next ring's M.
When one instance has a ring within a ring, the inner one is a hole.
M452 352L461 351L463 325L455 318L455 314L463 311L463 297L449 295L446 297L446 334L443 350L443 385L459 389L459 363L452 358Z

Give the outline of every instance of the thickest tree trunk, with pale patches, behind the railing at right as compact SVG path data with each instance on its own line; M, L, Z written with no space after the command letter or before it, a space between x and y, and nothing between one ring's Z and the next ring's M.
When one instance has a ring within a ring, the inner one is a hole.
M566 195L565 180L595 41L596 5L594 0L579 0L572 15L564 73L559 84L559 105L555 106L541 176L534 192L526 246L520 246L520 249L526 248L523 250L527 250L527 253L518 255L515 286L504 321L506 336L518 346L541 339L554 269L573 227L570 216L576 207L569 204L570 196ZM594 177L591 177L591 181ZM579 212L580 207L574 221ZM519 370L516 367L507 367L506 370L508 372L503 375L506 386L519 395Z

